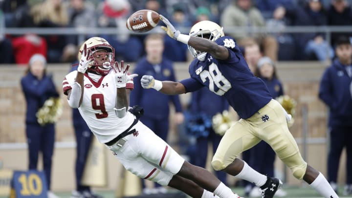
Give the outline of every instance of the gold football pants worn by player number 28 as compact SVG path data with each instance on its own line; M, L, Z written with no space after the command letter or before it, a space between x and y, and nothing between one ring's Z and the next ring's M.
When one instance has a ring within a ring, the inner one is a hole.
M243 151L264 140L291 169L293 176L302 179L307 163L288 131L285 113L281 104L272 99L252 117L236 122L222 137L212 160L213 168L217 171L226 168Z

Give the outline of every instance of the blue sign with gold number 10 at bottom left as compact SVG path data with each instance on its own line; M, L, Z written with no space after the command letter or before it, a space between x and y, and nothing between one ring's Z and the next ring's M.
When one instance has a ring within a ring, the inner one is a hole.
M11 181L10 198L46 198L47 188L43 172L15 171Z

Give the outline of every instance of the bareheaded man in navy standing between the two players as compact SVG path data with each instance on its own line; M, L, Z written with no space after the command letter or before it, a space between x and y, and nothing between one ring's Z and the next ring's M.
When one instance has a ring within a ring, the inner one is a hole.
M155 75L164 80L175 81L173 63L162 56L164 50L164 38L160 34L150 34L145 39L147 55L143 57L135 67L133 73L138 74L133 80L140 82L143 75ZM179 96L168 96L155 90L144 89L140 83L134 84L131 92L131 105L139 105L144 108L144 116L140 118L149 129L153 130L161 139L167 141L169 132L169 103L175 106L174 121L176 124L183 122L183 113ZM155 189L144 188L146 194L165 192L165 189L155 183Z

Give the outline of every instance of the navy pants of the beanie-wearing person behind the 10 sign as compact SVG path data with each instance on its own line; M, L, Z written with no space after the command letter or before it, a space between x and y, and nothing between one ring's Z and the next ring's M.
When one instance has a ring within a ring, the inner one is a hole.
M26 136L28 143L29 165L28 169L37 169L39 152L43 155L43 169L50 190L51 162L54 152L55 127L53 124L44 127L39 124L26 124Z

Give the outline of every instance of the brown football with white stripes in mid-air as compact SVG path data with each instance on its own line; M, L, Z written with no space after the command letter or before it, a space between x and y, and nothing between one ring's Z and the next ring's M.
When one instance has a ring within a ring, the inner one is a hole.
M133 32L148 32L159 22L160 16L153 10L138 10L126 22L126 27Z

